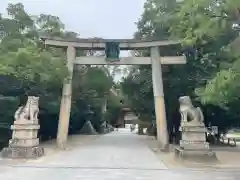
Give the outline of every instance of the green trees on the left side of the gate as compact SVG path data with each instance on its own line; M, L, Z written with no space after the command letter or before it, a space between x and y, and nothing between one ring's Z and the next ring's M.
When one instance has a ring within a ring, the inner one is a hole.
M40 36L76 38L78 33L65 30L53 15L30 16L21 3L9 4L8 17L0 16L0 124L12 124L13 114L26 96L40 96L40 136L42 140L56 137L63 80L68 72L66 52L61 48L44 47ZM78 55L85 52L77 51ZM78 132L85 122L87 106L94 112L93 126L99 130L103 119L102 102L112 99L114 85L108 68L87 67L86 73L74 69L70 133ZM119 107L117 103L115 107ZM111 111L111 110L110 110ZM110 112L108 112L110 113ZM5 137L6 138L6 137ZM4 141L7 141L5 139Z

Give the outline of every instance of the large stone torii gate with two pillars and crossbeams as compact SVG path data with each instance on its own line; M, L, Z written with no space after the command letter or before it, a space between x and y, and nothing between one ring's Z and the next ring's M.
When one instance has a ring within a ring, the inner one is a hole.
M72 95L72 75L74 65L152 65L152 81L153 94L155 99L155 114L157 124L157 139L162 148L168 145L168 133L166 112L164 103L163 80L162 80L162 64L186 64L185 56L160 57L159 47L179 44L177 41L142 41L135 39L74 39L66 40L55 37L43 37L45 45L67 48L67 67L69 70L68 81L63 84L62 100L60 106L59 125L57 134L57 146L64 148L67 136L71 109ZM111 47L112 46L112 47ZM120 50L142 50L151 49L150 57L114 57L108 59L106 57L83 56L76 57L76 49L81 50L105 50L115 48L118 55Z

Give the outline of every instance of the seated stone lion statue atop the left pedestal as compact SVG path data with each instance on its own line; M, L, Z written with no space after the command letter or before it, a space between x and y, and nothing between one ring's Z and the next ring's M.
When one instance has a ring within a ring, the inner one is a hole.
M15 112L15 120L24 119L30 121L37 121L39 113L38 101L39 97L28 96L26 105L20 106Z

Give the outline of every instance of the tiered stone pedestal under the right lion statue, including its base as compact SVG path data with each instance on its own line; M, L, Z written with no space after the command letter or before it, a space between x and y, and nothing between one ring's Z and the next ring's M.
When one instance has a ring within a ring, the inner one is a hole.
M181 124L182 140L180 147L175 149L175 156L194 161L215 161L215 152L209 148L206 142L206 127L203 123L184 122Z

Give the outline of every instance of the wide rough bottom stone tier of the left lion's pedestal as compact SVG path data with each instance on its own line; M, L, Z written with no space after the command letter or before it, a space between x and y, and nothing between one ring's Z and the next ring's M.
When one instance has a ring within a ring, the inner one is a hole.
M7 147L2 150L3 158L11 159L34 159L44 155L42 147Z

